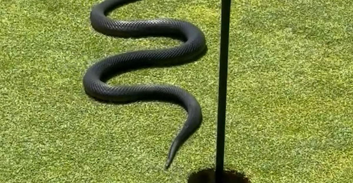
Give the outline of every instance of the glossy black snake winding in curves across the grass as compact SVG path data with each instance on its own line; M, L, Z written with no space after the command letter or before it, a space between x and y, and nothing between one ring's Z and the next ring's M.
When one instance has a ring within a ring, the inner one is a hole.
M139 101L163 101L177 104L187 112L187 118L176 135L167 155L167 170L180 147L202 124L202 111L195 96L170 84L118 84L111 86L111 78L138 69L174 67L195 62L207 52L204 33L185 20L155 18L118 20L109 17L115 9L140 0L104 0L90 12L91 27L98 33L117 38L167 37L181 44L170 48L132 50L102 58L92 64L83 76L85 93L108 103L126 104Z

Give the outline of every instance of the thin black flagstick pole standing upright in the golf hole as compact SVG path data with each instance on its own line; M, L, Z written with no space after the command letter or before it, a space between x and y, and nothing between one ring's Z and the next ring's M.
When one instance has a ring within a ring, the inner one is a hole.
M218 90L218 119L217 119L217 149L216 149L216 183L223 183L224 141L226 126L226 96L228 72L229 19L231 14L231 0L222 0L221 10L221 46Z

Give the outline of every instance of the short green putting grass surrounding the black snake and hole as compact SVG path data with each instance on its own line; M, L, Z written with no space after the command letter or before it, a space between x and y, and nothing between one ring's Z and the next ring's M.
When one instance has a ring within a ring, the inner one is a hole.
M204 121L163 171L185 111L161 102L105 105L82 77L98 59L175 40L94 32L94 0L0 0L0 182L185 183L215 156L220 0L146 0L121 19L170 17L204 31L198 62L134 71L116 83L170 83L195 95ZM226 168L253 183L353 182L353 1L235 0Z

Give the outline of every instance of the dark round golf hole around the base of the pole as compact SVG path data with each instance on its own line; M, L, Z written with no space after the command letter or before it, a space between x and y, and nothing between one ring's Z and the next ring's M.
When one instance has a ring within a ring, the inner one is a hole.
M189 176L187 183L216 183L215 169L203 169L193 172ZM236 171L223 171L223 183L251 183L243 174Z

